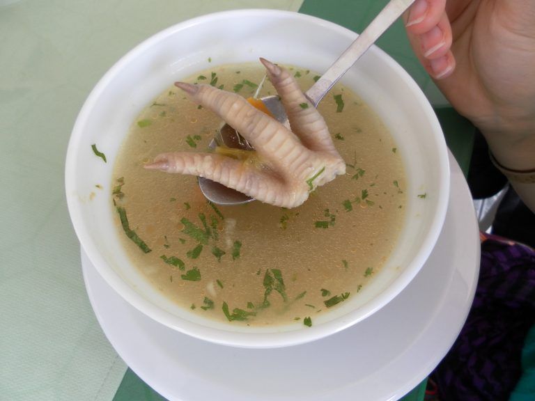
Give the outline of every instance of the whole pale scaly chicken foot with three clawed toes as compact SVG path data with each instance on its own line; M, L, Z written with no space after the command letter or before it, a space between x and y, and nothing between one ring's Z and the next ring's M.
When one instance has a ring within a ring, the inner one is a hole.
M261 58L288 115L291 130L235 93L210 85L176 83L189 97L217 113L251 143L258 155L235 158L225 152L169 152L145 168L197 175L258 201L297 207L311 191L346 173L325 120L307 100L292 75Z

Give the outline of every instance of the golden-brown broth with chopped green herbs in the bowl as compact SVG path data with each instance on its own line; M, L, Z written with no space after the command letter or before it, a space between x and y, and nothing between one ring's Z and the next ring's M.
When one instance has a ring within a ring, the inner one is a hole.
M302 88L318 76L288 70ZM259 63L223 65L185 81L244 97L275 94ZM170 86L132 124L114 166L113 203L132 263L166 297L209 319L310 327L358 297L381 269L405 219L405 173L396 143L355 93L337 84L322 100L346 173L302 205L221 206L192 175L144 165L164 152L205 152L222 125Z

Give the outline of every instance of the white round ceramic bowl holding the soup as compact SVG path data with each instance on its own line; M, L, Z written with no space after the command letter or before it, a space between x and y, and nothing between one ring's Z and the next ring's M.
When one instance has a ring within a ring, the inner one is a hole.
M408 178L407 215L396 249L357 297L292 329L235 329L196 317L164 299L132 267L114 226L111 175L130 124L173 81L212 63L257 61L318 72L356 34L322 19L276 10L215 13L171 26L121 58L102 77L79 113L68 146L65 187L72 223L95 268L111 288L141 312L177 331L239 347L284 347L329 336L385 306L414 278L442 228L449 198L447 147L430 104L417 84L389 56L372 47L343 77L389 127ZM95 157L91 145L107 156ZM104 186L95 191L95 184ZM425 201L418 194L427 194ZM408 312L410 313L410 312Z

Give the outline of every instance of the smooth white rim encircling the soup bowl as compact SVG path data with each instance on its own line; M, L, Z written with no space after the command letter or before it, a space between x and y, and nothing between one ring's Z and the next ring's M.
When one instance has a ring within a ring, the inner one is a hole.
M272 9L263 9L263 8L254 8L254 9L242 9L242 10L227 10L217 13L210 13L206 15L201 15L199 17L194 17L192 19L187 19L178 24L169 26L168 28L155 33L154 35L146 38L138 45L130 49L124 56L122 56L114 65L105 72L102 78L99 79L98 83L95 85L91 93L84 101L82 109L80 109L79 114L76 118L75 125L72 129L72 133L68 143L67 155L65 159L65 194L68 201L68 212L70 214L70 219L72 225L75 229L75 233L79 239L81 246L84 248L84 251L88 255L88 258L91 260L98 273L104 278L105 281L111 288L114 288L116 292L121 294L121 297L125 299L128 303L132 304L135 308L140 310L145 315L148 315L153 320L164 324L167 327L171 327L177 331L200 338L202 340L210 341L211 343L217 343L220 345L231 345L235 347L250 347L250 348L271 348L271 347L286 347L291 345L298 345L302 343L309 343L313 340L318 340L327 335L331 335L347 327L352 326L353 324L364 320L369 315L375 313L376 310L382 308L387 304L391 299L397 296L403 288L405 288L412 278L416 276L419 271L419 267L424 265L424 262L427 260L428 256L433 250L433 246L436 243L440 231L442 230L442 224L447 212L447 203L448 196L441 196L437 205L437 216L433 219L431 228L429 229L430 235L427 235L424 243L422 244L420 251L417 253L416 257L413 258L410 265L404 270L404 272L396 278L396 286L398 289L394 292L389 292L385 294L379 294L378 297L375 297L372 301L366 303L363 308L359 308L359 317L358 320L345 318L340 320L336 318L329 322L323 322L318 326L313 326L307 328L307 330L295 330L295 331L284 331L284 332L271 332L271 333L243 333L229 330L222 330L213 327L203 327L200 324L189 322L183 320L180 317L176 317L166 310L162 310L154 304L150 303L144 297L141 297L135 290L133 290L130 285L125 283L123 278L119 276L114 269L104 267L107 265L107 262L104 260L100 254L98 248L95 246L91 240L91 235L88 233L88 230L84 227L83 224L79 222L82 221L82 210L79 207L79 203L75 201L75 198L71 196L72 191L75 188L75 177L74 169L72 166L76 163L76 154L77 148L79 148L79 143L82 139L82 133L84 132L84 126L86 125L86 120L88 120L93 105L98 100L99 96L104 91L104 88L107 87L110 81L116 77L116 75L125 68L131 59L134 58L137 54L145 52L147 49L152 47L158 42L165 40L171 36L176 35L180 31L187 30L192 26L199 24L207 24L210 21L215 19L225 19L227 17L290 17L297 18L302 20L307 20L312 24L322 26L324 29L334 31L336 35L345 36L348 40L355 40L357 38L357 33L346 29L339 24L334 22L329 22L325 19L314 17L311 15L306 15L302 13L297 13L288 10L272 10ZM412 77L406 72L401 65L398 65L391 56L386 54L376 45L373 45L369 52L374 52L377 54L382 61L385 61L389 68L394 68L398 74L404 76L405 84L410 86L414 95L419 97L421 103L425 105L427 110L424 112L430 116L432 119L430 123L437 129L437 132L442 132L440 124L435 116L435 113L431 107L431 104L428 103L427 98L424 93L421 91L419 86L414 82ZM434 118L433 118L434 116ZM443 136L437 138L438 146L444 149L444 152L440 152L440 159L437 160L437 163L440 164L440 172L443 175L440 182L440 191L443 194L449 194L449 159L447 155L447 146ZM362 313L364 310L364 313ZM356 312L356 311L355 311ZM180 320L180 324L175 324L176 320Z

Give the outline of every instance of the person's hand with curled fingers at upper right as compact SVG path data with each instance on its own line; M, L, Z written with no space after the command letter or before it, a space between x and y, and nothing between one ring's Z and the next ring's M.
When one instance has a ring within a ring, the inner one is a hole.
M414 52L508 168L535 168L535 1L417 0Z

